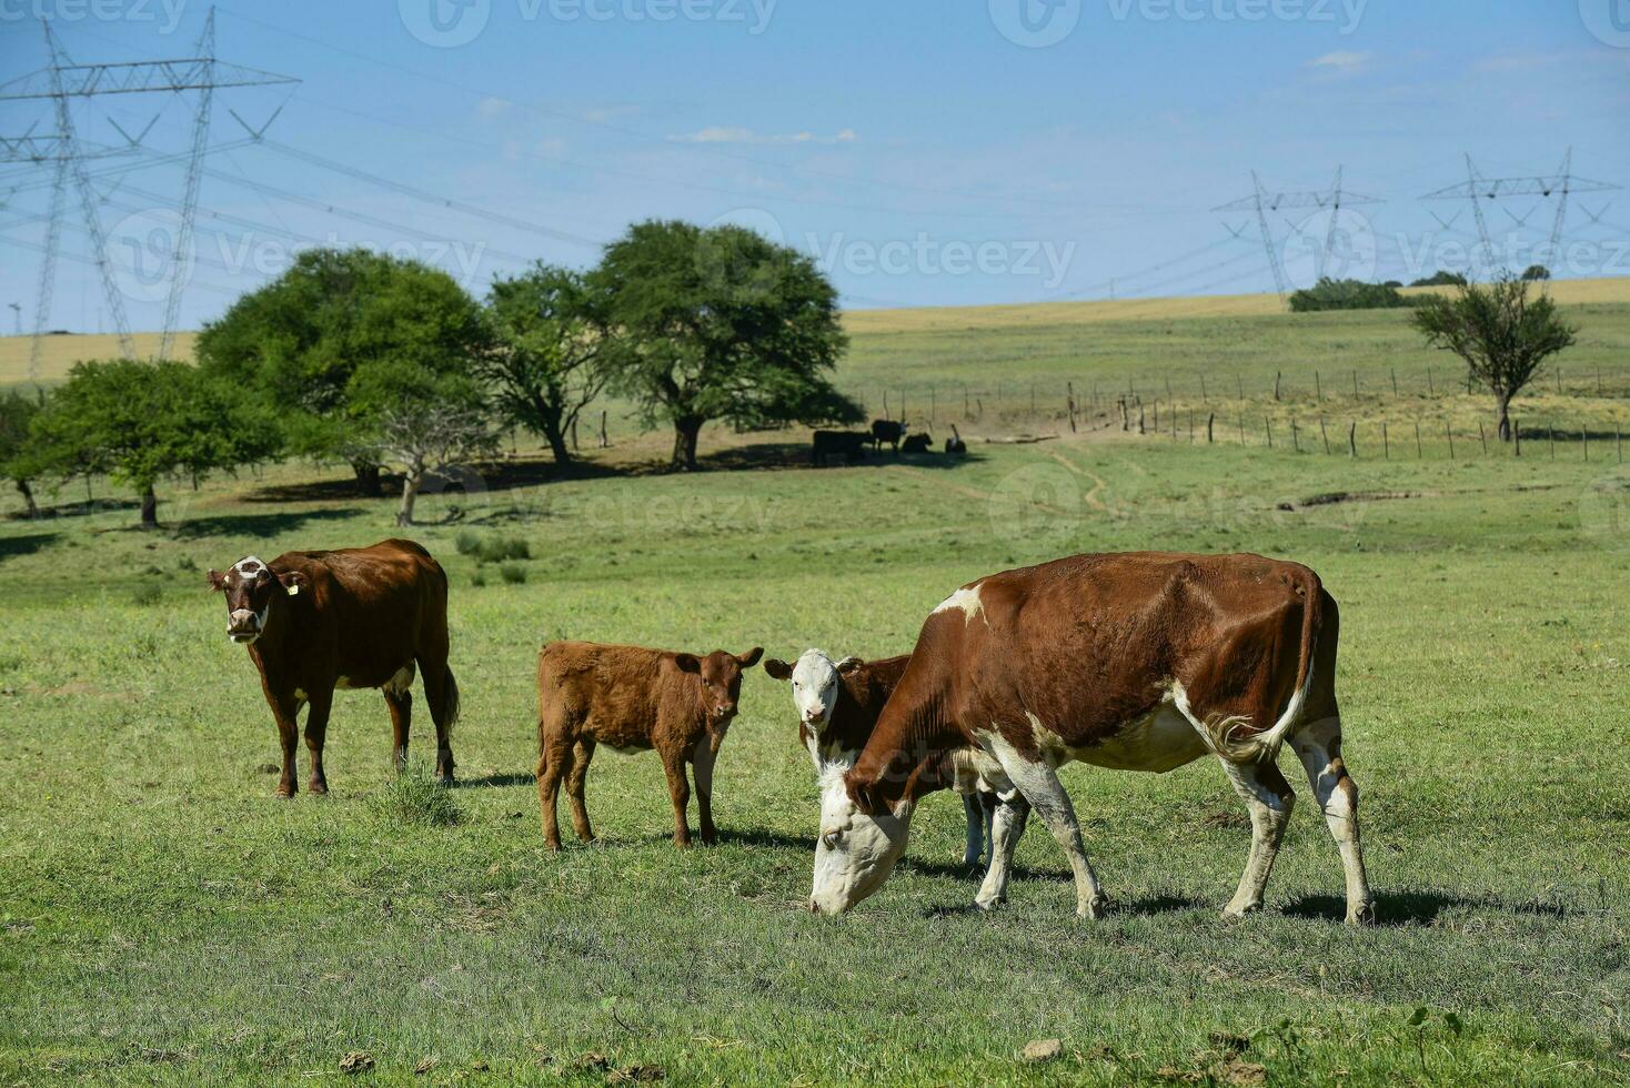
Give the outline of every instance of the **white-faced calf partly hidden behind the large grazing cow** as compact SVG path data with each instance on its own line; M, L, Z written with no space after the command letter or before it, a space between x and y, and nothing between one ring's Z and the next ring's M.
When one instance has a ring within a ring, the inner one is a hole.
M764 671L779 681L792 682L792 707L799 713L799 739L808 749L815 764L815 779L825 783L828 779L841 777L854 766L866 741L872 738L877 715L906 671L910 655L898 658L880 658L862 661L861 658L844 658L833 661L820 650L805 650L797 661L787 665L776 658L764 660ZM991 842L991 858L986 875L998 873L996 837L998 831L1006 834L1007 824L1014 831L1024 829L1024 818L1029 814L1025 800L1009 790L1009 798L996 793L991 783L978 775L968 775L952 788L962 793L962 811L968 823L968 834L962 850L962 863L973 866L985 853L985 844ZM1004 811L1004 805L1009 811ZM1017 839L1017 834L1014 834ZM998 886L1001 876L994 878L989 888L983 888L978 897L981 907L993 907L1006 899L1006 884Z

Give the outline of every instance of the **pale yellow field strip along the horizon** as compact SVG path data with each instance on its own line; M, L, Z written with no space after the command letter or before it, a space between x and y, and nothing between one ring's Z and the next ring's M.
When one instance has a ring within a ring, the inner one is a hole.
M1418 295L1433 288L1407 288ZM1557 301L1630 303L1630 277L1558 280L1550 285ZM1025 326L1069 326L1105 321L1172 321L1193 318L1255 318L1286 313L1278 295L1201 295L1193 298L1125 298L1117 301L1029 303L1014 306L921 306L916 309L859 309L846 313L851 336L874 332L936 332L975 329L1022 329ZM158 350L156 332L135 332L135 352L148 357ZM176 358L192 357L192 332L176 334ZM0 386L28 381L29 337L0 337ZM46 337L39 366L42 381L60 381L82 358L111 358L119 350L112 334Z

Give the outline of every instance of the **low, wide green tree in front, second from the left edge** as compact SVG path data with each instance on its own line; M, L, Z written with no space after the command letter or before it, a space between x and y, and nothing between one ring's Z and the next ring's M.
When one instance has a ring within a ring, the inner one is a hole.
M36 464L57 476L106 472L142 502L142 528L158 524L156 487L197 480L274 456L267 412L251 397L178 362L75 363L29 427Z

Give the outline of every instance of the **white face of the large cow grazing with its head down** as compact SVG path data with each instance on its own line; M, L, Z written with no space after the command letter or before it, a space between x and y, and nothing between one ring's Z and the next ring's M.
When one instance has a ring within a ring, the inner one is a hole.
M895 813L867 816L849 796L841 767L823 774L810 910L843 914L882 888L906 852L911 809L901 801Z

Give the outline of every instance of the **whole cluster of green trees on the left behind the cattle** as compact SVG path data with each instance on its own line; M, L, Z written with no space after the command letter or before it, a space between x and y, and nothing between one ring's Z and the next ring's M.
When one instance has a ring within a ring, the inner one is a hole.
M196 365L83 362L49 396L0 397L0 472L108 474L158 523L166 479L298 456L347 464L360 495L424 480L523 428L570 464L569 435L606 393L673 430L698 466L709 422L852 423L831 375L848 340L813 261L738 226L645 222L587 272L535 264L478 301L450 275L367 249L302 252L196 342Z

